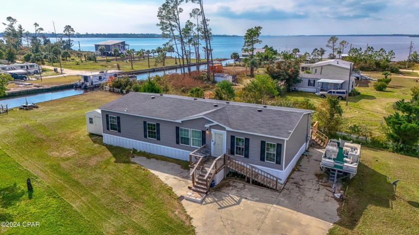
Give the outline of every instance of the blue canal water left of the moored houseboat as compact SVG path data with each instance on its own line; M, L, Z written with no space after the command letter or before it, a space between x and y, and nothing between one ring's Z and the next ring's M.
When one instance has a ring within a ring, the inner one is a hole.
M54 91L42 94L34 94L34 95L27 95L27 96L19 96L19 97L12 97L9 99L1 99L0 104L7 105L7 108L16 108L23 104L25 104L26 100L28 104L32 103L40 103L45 101L52 101L64 97L69 96L76 96L88 92L91 90L74 90L74 89L67 89L61 91Z

